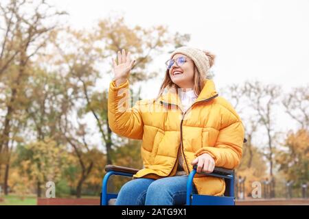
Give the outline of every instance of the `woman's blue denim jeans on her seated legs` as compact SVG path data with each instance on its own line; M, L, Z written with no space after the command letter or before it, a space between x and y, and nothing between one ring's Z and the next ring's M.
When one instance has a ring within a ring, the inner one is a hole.
M187 175L157 180L139 178L122 186L115 205L184 205L186 194Z

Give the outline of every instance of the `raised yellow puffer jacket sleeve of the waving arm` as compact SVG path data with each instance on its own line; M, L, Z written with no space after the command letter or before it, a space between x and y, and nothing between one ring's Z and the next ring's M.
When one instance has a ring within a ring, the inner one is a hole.
M111 81L108 91L108 125L114 133L133 139L142 139L144 123L139 111L139 101L130 108L128 80L120 86Z

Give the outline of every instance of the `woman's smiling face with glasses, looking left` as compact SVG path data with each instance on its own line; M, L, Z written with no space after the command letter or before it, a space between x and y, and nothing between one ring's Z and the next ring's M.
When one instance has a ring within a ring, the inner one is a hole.
M180 88L194 87L194 62L181 53L176 53L172 59L176 61L179 57L184 57L183 64L177 66L176 63L172 65L169 70L170 78L173 83L176 83Z

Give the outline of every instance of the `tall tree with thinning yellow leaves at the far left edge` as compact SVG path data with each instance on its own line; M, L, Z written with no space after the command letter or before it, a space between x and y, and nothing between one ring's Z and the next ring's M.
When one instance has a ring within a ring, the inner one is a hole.
M27 13L25 12L27 11ZM8 0L0 3L0 85L5 88L5 116L1 118L0 156L8 153L12 120L16 112L25 110L27 78L31 75L35 55L46 46L49 34L56 27L47 21L63 14L44 0ZM1 159L5 172L10 159ZM1 170L1 168L0 168ZM0 172L1 173L1 172ZM3 177L7 191L8 175Z

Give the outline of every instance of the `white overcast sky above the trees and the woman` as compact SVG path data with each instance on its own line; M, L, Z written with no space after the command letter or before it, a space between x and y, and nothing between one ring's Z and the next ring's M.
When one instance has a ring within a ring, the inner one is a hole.
M166 25L171 32L190 34L188 46L217 55L213 70L218 89L253 79L277 83L284 91L308 83L308 0L50 2L69 12L66 19L76 28L89 28L100 18L122 14L128 25ZM168 57L169 54L162 54L152 68L163 69L163 60ZM157 94L163 74L164 70L155 81L144 83L147 86L143 88L145 98ZM109 81L104 81L104 86L108 84ZM285 130L293 126L290 122L287 117L279 119Z

